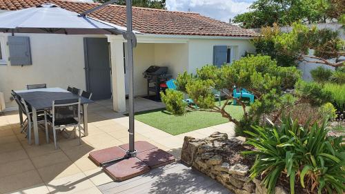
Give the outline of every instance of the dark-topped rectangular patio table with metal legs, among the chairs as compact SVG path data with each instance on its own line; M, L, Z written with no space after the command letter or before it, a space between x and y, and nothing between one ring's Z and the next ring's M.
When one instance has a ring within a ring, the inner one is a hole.
M37 126L37 111L52 108L52 101L61 99L77 99L80 97L80 104L83 108L83 130L88 135L88 104L93 101L79 95L72 94L62 88L39 88L33 90L15 90L19 97L23 98L28 106L32 108L32 122L34 128L34 144L39 145L39 130ZM19 118L23 122L23 113L19 108Z

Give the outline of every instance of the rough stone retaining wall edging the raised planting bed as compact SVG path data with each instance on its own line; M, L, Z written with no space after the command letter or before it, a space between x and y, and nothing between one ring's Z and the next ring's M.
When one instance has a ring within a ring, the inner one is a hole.
M250 166L245 164L230 165L224 156L217 154L242 146L245 140L244 137L228 139L226 133L219 132L213 133L205 139L186 136L181 151L181 160L217 180L235 194L267 193L260 180L251 180L248 176ZM275 188L275 193L287 194L284 188L280 186Z

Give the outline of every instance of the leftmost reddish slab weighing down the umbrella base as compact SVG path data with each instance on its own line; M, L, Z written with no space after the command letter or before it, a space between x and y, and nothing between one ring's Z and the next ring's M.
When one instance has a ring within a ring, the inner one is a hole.
M113 146L111 148L105 148L99 151L92 151L89 155L89 158L92 160L92 162L95 162L97 166L100 166L100 164L103 162L124 157L124 155L126 155L126 151L119 148L119 146Z

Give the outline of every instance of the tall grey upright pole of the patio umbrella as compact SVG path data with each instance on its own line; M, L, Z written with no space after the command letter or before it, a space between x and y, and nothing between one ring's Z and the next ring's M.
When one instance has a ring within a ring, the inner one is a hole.
M132 1L126 0L126 23L127 23L127 35L130 36L132 32ZM133 87L133 39L127 39L127 58L128 64L128 84L129 84L129 150L127 151L128 157L135 157L137 151L135 150L135 126L134 126L134 87Z

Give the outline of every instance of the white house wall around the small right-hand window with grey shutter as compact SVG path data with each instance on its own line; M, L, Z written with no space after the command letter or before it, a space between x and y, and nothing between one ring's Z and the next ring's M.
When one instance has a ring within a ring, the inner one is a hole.
M213 46L234 46L235 60L246 51L255 52L248 39L190 39L188 45L188 71L191 73L206 64L213 64Z

